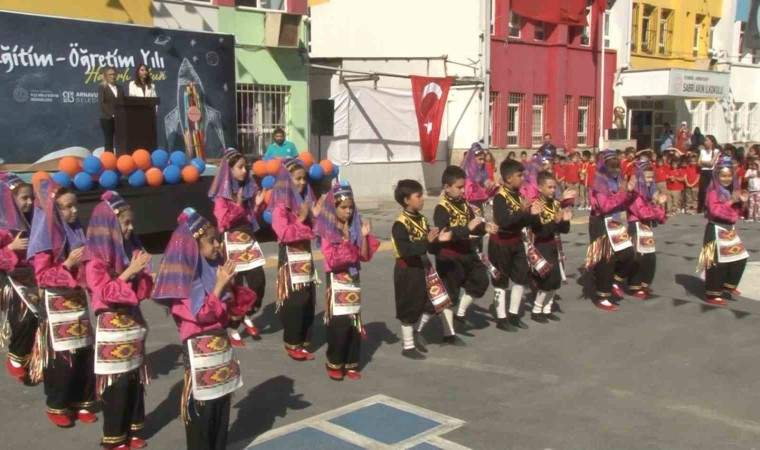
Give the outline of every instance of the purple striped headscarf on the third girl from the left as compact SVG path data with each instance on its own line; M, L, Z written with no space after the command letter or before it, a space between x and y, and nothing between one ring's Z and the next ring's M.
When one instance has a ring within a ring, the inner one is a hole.
M82 260L100 259L112 267L116 273L124 272L135 250L143 246L137 233L132 232L124 239L119 225L119 214L129 209L129 205L114 191L106 191L95 206L87 226L87 243Z

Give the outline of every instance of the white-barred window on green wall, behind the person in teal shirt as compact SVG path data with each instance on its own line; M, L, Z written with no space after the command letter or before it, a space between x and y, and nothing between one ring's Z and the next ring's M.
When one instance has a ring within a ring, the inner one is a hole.
M287 129L289 103L289 86L238 84L238 150L246 155L263 155L275 128Z

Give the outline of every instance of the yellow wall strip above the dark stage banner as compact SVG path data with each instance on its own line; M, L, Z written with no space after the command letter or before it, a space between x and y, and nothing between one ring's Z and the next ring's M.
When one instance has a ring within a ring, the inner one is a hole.
M75 19L153 25L151 0L0 0L0 9Z

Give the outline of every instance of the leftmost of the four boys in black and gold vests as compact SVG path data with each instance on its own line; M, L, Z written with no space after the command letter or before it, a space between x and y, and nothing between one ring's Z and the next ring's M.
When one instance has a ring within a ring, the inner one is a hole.
M393 288L396 300L396 318L401 322L403 350L407 358L425 359L425 339L420 330L434 315L448 311L451 301L443 282L438 277L427 252L435 242L451 240L451 231L430 228L427 217L420 211L425 206L422 185L414 180L401 180L393 193L404 210L393 223L391 241L396 264L393 268ZM444 316L444 334L453 336L453 317ZM415 324L417 328L415 329ZM422 353L420 353L422 352Z

